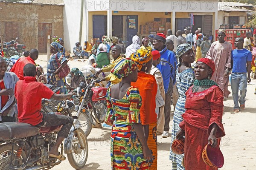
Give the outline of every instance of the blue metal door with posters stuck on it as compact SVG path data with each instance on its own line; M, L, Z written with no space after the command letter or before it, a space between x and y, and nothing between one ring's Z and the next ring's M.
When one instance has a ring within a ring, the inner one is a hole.
M132 37L138 35L138 15L126 16L126 47L132 44Z

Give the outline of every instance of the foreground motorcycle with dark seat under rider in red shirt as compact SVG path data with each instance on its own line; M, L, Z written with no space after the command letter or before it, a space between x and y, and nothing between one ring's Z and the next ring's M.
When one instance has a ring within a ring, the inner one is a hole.
M54 104L44 99L54 107ZM69 104L71 103L71 105ZM61 154L67 154L68 161L75 169L84 167L88 157L87 136L76 121L72 112L75 105L67 100L59 104L66 116L74 119L73 127L63 143ZM44 110L42 109L42 112ZM46 111L49 113L48 111ZM55 113L61 114L61 113ZM41 170L51 169L61 163L57 158L49 157L48 153L54 145L61 126L36 127L20 122L5 122L0 124L0 170Z

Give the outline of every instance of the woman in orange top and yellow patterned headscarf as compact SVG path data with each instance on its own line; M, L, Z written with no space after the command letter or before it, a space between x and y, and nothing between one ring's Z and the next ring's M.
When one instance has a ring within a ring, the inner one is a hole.
M131 85L138 87L140 91L143 101L140 108L141 123L148 147L153 155L152 159L148 161L149 170L157 170L157 113L155 112L157 81L150 74L153 56L149 50L137 50L130 57L138 66L138 79Z

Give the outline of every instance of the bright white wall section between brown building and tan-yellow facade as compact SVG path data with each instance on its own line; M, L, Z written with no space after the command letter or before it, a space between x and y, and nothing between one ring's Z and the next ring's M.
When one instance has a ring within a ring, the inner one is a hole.
M81 0L64 0L64 3L64 47L66 51L73 52L75 43L79 41Z

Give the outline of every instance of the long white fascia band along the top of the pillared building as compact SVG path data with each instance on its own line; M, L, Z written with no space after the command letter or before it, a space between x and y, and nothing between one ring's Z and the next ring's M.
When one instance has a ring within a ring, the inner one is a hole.
M215 12L218 0L87 0L88 11Z

